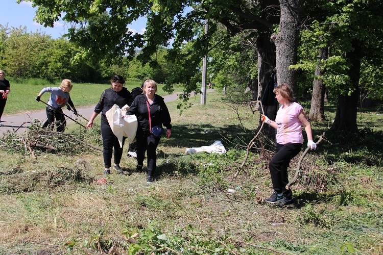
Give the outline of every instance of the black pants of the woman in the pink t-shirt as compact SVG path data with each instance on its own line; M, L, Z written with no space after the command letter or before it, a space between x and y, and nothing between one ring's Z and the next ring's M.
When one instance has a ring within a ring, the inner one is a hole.
M291 198L293 192L289 189L286 190L286 184L289 183L288 167L290 160L298 155L302 149L301 143L286 143L276 146L276 154L269 163L271 182L273 183L274 190L284 197Z

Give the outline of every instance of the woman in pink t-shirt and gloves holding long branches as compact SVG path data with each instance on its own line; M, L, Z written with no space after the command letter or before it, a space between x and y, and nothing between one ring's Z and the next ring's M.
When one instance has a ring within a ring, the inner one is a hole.
M271 182L274 192L265 201L277 203L280 207L293 203L292 191L286 190L289 183L288 167L292 160L301 151L303 144L302 125L307 134L307 146L316 149L313 141L310 122L308 122L303 107L295 103L293 91L289 85L283 83L274 88L275 98L281 104L275 117L270 120L266 115L261 115L261 120L277 130L276 153L269 163Z

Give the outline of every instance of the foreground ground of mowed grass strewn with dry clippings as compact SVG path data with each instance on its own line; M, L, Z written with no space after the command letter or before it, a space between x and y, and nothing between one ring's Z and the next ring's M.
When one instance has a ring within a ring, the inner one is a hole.
M295 207L280 209L263 202L272 192L272 142L257 141L244 169L233 177L256 133L259 112L232 105L218 92L207 93L205 106L199 96L190 101L192 108L182 115L177 101L166 104L172 137L160 141L152 185L145 172L125 176L112 171L107 184L95 182L105 177L102 152L95 150L36 151L33 158L28 150L10 154L2 149L0 253L106 254L113 248L134 254L126 240L134 234L141 254L383 252L379 131L361 126L361 134L341 139L312 123L314 134L326 132L333 145L321 143L309 152L292 186ZM363 118L370 119L369 114ZM93 129L79 134L73 124L66 132L100 146L98 124ZM225 155L185 155L187 147L216 140L225 145ZM136 160L127 149L128 144L121 166L131 171ZM291 163L291 176L297 161Z

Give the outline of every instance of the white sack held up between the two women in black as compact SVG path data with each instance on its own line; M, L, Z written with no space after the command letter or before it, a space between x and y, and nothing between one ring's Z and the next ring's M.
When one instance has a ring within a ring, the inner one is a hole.
M113 105L112 108L105 113L110 128L117 137L120 147L123 147L124 136L127 137L129 143L134 142L136 139L137 118L135 115L124 116L127 110L129 110L129 106L127 105L122 109L119 109L117 105ZM122 116L124 116L124 118Z

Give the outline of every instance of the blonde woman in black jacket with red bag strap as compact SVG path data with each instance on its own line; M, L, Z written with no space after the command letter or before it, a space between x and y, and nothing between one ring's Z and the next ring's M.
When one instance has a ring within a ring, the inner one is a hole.
M154 176L156 171L157 145L161 139L161 136L155 137L150 130L150 126L164 125L166 126L166 138L169 138L172 134L172 124L169 114L163 98L156 94L157 84L153 80L146 80L143 83L143 93L138 95L127 111L126 115L136 115L137 117L137 167L136 172L142 170L143 160L145 158L145 151L147 151L148 162L148 183L154 182ZM149 111L150 115L149 115ZM151 118L151 124L149 123L149 116Z

